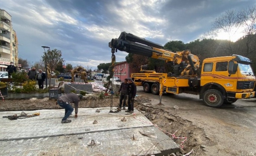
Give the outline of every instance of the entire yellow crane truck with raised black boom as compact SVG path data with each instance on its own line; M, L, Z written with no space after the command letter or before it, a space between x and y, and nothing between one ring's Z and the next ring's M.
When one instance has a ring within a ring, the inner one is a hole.
M255 96L255 75L251 60L240 55L207 58L200 61L190 50L172 52L160 44L122 32L119 38L109 42L112 54L117 50L165 60L173 67L174 73L144 71L133 73L136 85L145 92L160 95L166 93L199 94L205 105L219 107L232 104L238 99Z

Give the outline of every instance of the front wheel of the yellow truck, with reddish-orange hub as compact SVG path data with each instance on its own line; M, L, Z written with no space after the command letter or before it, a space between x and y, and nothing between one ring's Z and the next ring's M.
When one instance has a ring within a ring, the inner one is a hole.
M209 89L203 94L203 102L209 107L219 107L223 104L223 96L219 90Z

